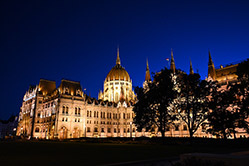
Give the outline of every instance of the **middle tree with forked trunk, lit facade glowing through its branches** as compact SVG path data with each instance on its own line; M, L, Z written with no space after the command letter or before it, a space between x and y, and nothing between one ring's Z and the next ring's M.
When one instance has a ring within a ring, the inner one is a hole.
M188 126L190 138L203 124L209 113L209 96L213 82L200 80L199 74L182 73L177 78L179 94L172 103L172 110L175 110L178 120L182 120Z

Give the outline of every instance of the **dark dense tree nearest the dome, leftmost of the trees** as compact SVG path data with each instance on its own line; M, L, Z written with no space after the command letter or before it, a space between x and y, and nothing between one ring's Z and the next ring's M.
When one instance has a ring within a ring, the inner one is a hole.
M145 128L148 131L156 127L162 137L165 136L167 125L173 121L167 108L176 97L172 77L172 71L165 68L154 75L154 81L148 83L148 90L135 88L138 101L133 111L138 130Z

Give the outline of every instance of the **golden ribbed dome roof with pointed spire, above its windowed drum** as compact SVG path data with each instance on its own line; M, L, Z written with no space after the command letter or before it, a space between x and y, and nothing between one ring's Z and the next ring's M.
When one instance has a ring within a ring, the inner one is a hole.
M124 69L124 67L121 66L121 62L120 62L120 58L119 58L119 49L117 51L116 65L107 74L106 80L130 81L130 76L129 76L128 72Z

